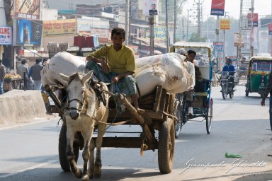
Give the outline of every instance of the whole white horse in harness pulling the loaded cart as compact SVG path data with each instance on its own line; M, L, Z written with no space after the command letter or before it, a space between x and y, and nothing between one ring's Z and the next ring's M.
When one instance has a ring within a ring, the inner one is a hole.
M72 76L58 74L65 85L67 85L67 107L64 110L63 117L67 124L67 160L75 177L81 180L89 180L89 178L101 176L101 146L103 134L106 130L108 119L108 97L103 96L104 101L100 101L98 95L89 84L93 71L88 74L80 75L78 73ZM108 91L105 83L99 83L96 86L101 86L101 90ZM97 125L98 136L96 145L91 143L91 138L94 132L94 127ZM82 157L84 160L83 173L74 160L73 143L74 136L77 132L81 132L84 138L84 149ZM94 162L94 148L96 146L96 160ZM89 160L89 168L88 168ZM87 169L88 168L88 169Z

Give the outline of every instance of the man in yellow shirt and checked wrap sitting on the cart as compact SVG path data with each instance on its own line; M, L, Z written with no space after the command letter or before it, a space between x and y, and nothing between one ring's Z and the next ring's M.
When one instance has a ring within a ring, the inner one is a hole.
M125 42L125 30L113 28L111 31L112 45L105 45L96 52L86 57L87 68L94 70L94 75L105 83L112 83L110 91L113 93L124 93L131 96L132 102L138 113L144 110L139 108L137 99L137 88L135 82L135 54ZM99 64L101 65L99 65Z

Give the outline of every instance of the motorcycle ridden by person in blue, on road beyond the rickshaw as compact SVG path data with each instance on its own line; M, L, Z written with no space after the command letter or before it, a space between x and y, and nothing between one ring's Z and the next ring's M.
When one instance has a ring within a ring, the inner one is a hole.
M227 98L227 95L229 95L229 98L233 98L234 96L234 75L229 75L229 71L222 71L221 78L220 78L220 86L221 86L221 93L223 99Z

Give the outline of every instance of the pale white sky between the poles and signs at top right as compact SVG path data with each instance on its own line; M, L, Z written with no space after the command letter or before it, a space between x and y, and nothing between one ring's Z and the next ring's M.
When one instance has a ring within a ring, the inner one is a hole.
M187 9L196 8L193 6L193 1L198 0L188 0L188 2L183 6L183 12L187 14ZM250 0L244 0L250 1ZM254 13L259 13L259 18L265 15L271 15L271 1L272 0L255 0L254 1ZM203 21L210 16L210 7L212 0L200 0L203 2ZM240 0L225 0L225 12L227 15L239 19L240 16ZM187 15L183 15L187 16ZM215 16L216 17L216 16Z

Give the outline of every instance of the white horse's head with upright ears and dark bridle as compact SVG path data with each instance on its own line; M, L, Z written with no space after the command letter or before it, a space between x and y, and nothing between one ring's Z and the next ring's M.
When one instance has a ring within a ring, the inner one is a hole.
M72 76L66 76L64 74L59 74L60 78L67 85L68 94L68 110L69 115L72 119L77 119L84 105L85 97L85 83L89 81L94 71L89 71L88 74L80 75L78 73Z

